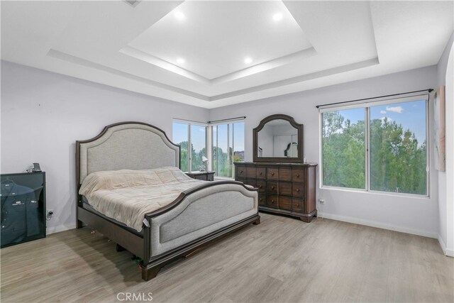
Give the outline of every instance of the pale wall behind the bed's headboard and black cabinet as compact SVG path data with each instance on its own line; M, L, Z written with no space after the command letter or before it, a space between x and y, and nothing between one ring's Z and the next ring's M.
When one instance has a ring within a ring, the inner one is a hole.
M172 138L172 118L209 111L1 61L1 173L39 162L47 178L48 232L75 227L74 141L119 121L143 121Z

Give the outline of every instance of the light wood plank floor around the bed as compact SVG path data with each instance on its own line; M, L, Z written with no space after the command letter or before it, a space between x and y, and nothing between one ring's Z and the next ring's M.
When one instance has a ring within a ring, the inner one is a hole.
M89 228L1 249L1 302L453 302L453 279L435 239L270 214L148 282Z

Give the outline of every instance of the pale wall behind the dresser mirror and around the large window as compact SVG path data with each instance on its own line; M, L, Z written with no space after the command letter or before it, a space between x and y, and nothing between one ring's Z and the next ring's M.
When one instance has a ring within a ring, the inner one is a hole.
M210 120L246 116L245 160L252 161L253 128L272 114L293 116L304 124L304 158L319 162L318 104L377 97L387 94L435 88L436 66L399 72L382 77L363 79L323 87L286 96L250 101L210 111ZM433 121L430 121L433 124ZM433 159L431 159L433 163ZM317 171L317 182L319 182ZM437 238L438 236L438 173L431 165L430 198L402 197L392 194L372 194L338 189L318 189L317 198L326 204L317 207L322 216L343 221L395 229Z

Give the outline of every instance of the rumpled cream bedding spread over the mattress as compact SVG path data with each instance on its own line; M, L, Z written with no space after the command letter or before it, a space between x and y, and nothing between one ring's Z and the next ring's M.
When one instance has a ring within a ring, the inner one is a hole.
M186 189L206 181L187 177L177 167L153 170L109 170L88 175L79 194L101 214L136 231L142 230L145 214L173 202Z

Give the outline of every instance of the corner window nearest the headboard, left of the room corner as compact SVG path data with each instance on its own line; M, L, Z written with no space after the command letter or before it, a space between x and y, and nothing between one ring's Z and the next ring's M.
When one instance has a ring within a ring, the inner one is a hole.
M172 126L172 141L180 145L181 170L192 172L205 167L202 157L206 157L206 126L184 122L174 122Z

